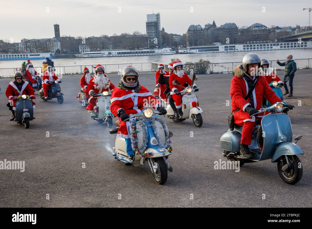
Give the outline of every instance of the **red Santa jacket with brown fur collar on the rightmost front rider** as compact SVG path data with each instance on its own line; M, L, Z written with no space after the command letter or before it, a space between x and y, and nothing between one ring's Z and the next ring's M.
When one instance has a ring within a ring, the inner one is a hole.
M234 113L237 108L240 108L239 111L235 112L234 120L235 123L246 122L246 121L255 121L255 117L250 117L250 115L245 112L245 108L250 105L249 98L244 99L248 93L248 84L246 79L244 79L244 72L240 69L240 66L237 66L233 72L233 79L231 80L231 99L232 99L232 112ZM259 76L257 79L256 87L252 93L254 98L254 107L257 110L260 110L262 107L263 96L271 103L277 103L283 101L276 96L274 91L270 88L269 84L266 82L264 76ZM263 117L259 114L258 117ZM237 121L237 122L236 122Z

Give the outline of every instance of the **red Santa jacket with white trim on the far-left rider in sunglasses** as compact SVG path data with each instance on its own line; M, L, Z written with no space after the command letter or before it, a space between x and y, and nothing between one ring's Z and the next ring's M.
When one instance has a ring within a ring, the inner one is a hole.
M17 101L18 95L29 95L30 98L35 99L35 92L34 89L30 86L30 84L25 81L23 83L21 91L17 89L17 86L14 84L14 81L11 81L9 85L7 86L7 90L5 91L5 95L7 96L9 102L13 101L13 110L16 110L15 103ZM35 108L35 106L33 106Z

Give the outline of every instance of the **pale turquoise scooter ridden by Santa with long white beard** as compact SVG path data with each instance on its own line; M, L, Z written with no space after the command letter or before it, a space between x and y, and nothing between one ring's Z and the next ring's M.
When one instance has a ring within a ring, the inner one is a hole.
M97 112L88 111L91 115L91 118L96 120L99 124L106 122L109 128L113 126L113 118L115 117L112 112L110 111L110 93L107 91L94 95L93 98L96 96L100 96L96 100Z

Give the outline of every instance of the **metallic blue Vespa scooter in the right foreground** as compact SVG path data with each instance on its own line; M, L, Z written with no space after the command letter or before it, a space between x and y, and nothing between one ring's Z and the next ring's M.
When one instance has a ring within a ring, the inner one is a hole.
M293 133L289 117L283 113L276 113L282 112L285 108L282 103L275 103L270 107L261 108L256 113L270 112L262 118L261 126L259 126L259 120L256 119L251 134L251 145L249 145L252 158L244 159L240 155L243 127L238 125L234 126L233 131L229 129L220 138L223 156L234 163L239 163L240 166L245 163L271 159L271 162L277 162L277 171L284 182L287 184L299 182L303 170L297 155L303 154L303 152L296 143L302 138L302 135L295 138L296 143L292 142Z

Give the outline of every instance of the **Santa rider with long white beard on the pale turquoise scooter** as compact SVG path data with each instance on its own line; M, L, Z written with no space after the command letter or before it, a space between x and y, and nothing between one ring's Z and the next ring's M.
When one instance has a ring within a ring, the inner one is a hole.
M110 82L110 79L108 79L107 75L104 74L104 67L100 64L98 64L95 67L95 74L94 78L90 80L88 87L86 89L86 93L91 95L89 98L89 105L86 107L87 110L97 113L96 110L96 98L93 98L93 95L103 93L104 91L108 92L108 89L110 91L113 91L115 88L115 85Z

